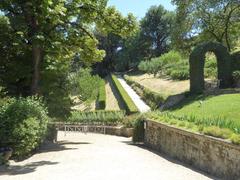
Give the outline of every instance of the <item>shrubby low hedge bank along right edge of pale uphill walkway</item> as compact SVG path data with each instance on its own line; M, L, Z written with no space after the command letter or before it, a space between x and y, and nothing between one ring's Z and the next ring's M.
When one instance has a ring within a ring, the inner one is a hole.
M153 92L143 85L133 81L129 76L125 75L124 79L137 92L137 94L151 107L152 110L159 108L167 99L166 96Z

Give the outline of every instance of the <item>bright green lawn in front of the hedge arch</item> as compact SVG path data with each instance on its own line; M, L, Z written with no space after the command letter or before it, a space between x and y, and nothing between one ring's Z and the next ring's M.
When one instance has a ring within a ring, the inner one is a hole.
M193 96L171 110L176 115L197 118L223 118L240 122L240 94Z

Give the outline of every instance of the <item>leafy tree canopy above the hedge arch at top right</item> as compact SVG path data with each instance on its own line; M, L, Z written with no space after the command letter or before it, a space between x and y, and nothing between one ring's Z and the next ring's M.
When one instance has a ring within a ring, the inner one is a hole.
M185 44L189 40L195 40L195 43L214 40L226 45L229 51L233 49L239 34L238 0L173 0L173 2L177 5L175 44L179 44L181 40Z

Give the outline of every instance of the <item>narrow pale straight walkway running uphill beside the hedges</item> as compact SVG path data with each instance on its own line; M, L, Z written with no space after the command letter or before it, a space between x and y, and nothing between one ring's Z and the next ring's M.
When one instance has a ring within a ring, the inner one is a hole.
M140 98L140 96L129 86L122 77L118 77L119 82L123 88L127 91L133 102L136 104L140 112L150 111L151 108Z

